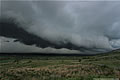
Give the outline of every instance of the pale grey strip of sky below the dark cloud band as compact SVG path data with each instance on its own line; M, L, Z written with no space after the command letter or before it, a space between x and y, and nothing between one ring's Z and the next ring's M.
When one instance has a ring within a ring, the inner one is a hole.
M24 45L20 42L14 42L15 39L12 38L5 38L5 37L0 37L0 52L2 53L81 53L80 51L77 50L69 50L69 49L54 49L51 47L47 48L39 48L36 46L29 46L29 45ZM9 42L7 42L9 41Z

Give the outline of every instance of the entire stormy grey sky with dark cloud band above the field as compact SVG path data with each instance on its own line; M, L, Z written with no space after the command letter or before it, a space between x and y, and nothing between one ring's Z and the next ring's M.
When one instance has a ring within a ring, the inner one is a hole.
M13 52L8 51L8 45L20 47L14 52L24 52L26 48L41 53L96 54L118 49L119 4L119 1L1 1L2 52ZM11 38L16 40L10 41Z

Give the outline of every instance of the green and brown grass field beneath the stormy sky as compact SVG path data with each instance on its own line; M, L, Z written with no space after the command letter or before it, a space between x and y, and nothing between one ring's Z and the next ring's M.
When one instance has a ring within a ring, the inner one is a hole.
M0 56L0 80L120 78L120 52L96 56Z

